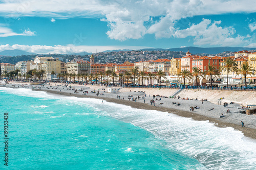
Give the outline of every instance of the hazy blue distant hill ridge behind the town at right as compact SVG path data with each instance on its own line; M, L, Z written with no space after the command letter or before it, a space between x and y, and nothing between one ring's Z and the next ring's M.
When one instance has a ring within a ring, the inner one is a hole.
M247 48L247 47L229 47L229 46L223 46L223 47L195 47L195 46L187 46L187 47L180 47L180 48L145 48L142 49L143 51L176 51L176 52L187 52L189 50L190 53L193 54L218 54L223 52L238 52L242 50L256 50L256 48Z

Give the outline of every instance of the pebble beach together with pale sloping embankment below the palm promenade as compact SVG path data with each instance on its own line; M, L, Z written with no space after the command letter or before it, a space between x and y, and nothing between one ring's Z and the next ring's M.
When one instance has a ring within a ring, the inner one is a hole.
M13 84L15 84L14 88L17 88L17 86L23 83L15 82L15 83L6 85L6 87L12 87ZM102 99L107 102L114 102L114 103L131 106L133 108L138 108L138 109L168 112L168 113L173 113L183 117L191 117L195 120L208 120L209 122L214 123L218 127L232 127L236 130L242 131L245 136L256 139L256 115L246 115L246 114L239 113L239 109L237 108L241 106L240 104L237 104L237 103L229 104L228 107L223 107L223 105L218 105L210 101L204 101L202 104L202 101L200 101L201 98L199 98L199 101L169 99L169 98L161 98L161 101L159 101L160 97L156 96L158 100L155 102L156 105L154 106L150 104L150 100L153 99L153 94L156 95L157 93L159 93L159 95L163 95L162 92L164 91L163 93L165 94L165 96L168 96L169 93L172 93L173 92L172 90L175 90L175 89L164 89L163 91L160 91L160 89L151 89L151 88L122 88L120 89L119 93L107 93L106 92L107 87L105 86L100 86L100 85L86 86L86 85L69 84L69 86L75 87L75 89L84 88L83 91L88 91L88 94L83 95L82 92L80 91L78 91L78 94L76 94L74 93L74 90L69 90L67 87L63 87L64 84L51 83L51 85L53 87L50 87L49 84L45 85L44 88L42 88L42 86L29 86L29 87L30 88L33 87L32 90L47 91L54 95L57 94L57 95L77 96L79 98ZM38 87L40 88L38 89ZM120 87L117 87L117 88L120 88ZM96 93L91 92L94 89L96 90L96 92L99 89L99 94L104 93L104 95L96 96ZM104 89L105 89L105 92L104 92ZM212 90L210 91L212 92ZM192 95L185 90L183 90L183 93L181 93L181 95L184 95L185 92L187 93L187 97ZM197 91L197 94L198 93L200 93L200 91ZM117 98L117 96L119 95L120 95L120 99ZM139 100L137 99L136 102L132 101L132 99L129 101L128 99L129 95L133 95L132 98L134 99L136 96L137 98L138 96L140 96L141 98ZM144 99L142 99L143 96L145 97L145 104L144 104ZM205 90L205 93L203 93L203 96L204 96L203 99L208 99L211 97L217 98L216 97L217 95L211 96L211 94L207 94L206 90ZM194 99L195 98L196 97L194 97ZM173 102L180 103L180 106L173 105L172 104ZM223 100L223 102L225 101ZM163 104L159 105L159 103L163 103ZM190 111L190 106L193 106L193 107L198 106L200 107L200 109L195 109L192 112ZM209 111L212 108L214 109ZM226 113L227 109L229 109L231 113ZM220 118L221 113L224 113L225 115L222 118ZM241 120L244 122L246 128L242 128Z

